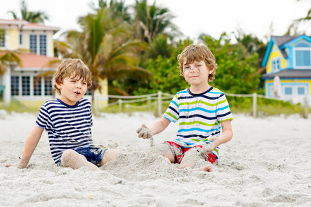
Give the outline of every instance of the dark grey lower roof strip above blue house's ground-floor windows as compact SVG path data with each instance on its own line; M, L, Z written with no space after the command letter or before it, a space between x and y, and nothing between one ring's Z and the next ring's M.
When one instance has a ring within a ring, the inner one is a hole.
M261 79L274 79L276 76L279 76L280 79L311 79L311 68L281 70L279 72L263 74Z

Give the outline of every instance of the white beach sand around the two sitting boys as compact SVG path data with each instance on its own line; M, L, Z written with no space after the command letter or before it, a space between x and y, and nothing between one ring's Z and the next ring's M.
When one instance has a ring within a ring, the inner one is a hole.
M150 141L135 131L157 119L151 114L93 118L95 144L122 150L101 171L56 167L46 132L28 168L4 168L19 161L35 119L0 110L0 206L311 206L310 118L234 115L234 138L220 146L212 172L144 155ZM155 144L177 128L154 136Z

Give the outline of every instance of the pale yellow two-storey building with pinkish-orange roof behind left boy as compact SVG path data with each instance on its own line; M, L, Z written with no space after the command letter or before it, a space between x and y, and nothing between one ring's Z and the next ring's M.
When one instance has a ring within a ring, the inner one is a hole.
M52 86L55 67L49 68L47 63L54 57L53 35L60 28L45 26L42 23L28 23L25 20L0 19L0 50L19 50L21 66L12 64L6 73L0 77L3 90L3 102L9 104L12 99L20 101L25 106L41 106L55 96ZM40 77L40 74L50 72L50 75ZM106 83L106 80L104 81ZM104 84L102 94L95 93L99 107L108 103L108 86ZM56 95L57 96L57 95ZM91 99L91 92L86 92L86 98Z

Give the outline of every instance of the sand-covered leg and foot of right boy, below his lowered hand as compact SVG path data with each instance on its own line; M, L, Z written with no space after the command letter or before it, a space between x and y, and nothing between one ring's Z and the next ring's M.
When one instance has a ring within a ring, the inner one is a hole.
M200 152L198 151L200 148L191 148L187 152L185 152L184 157L182 158L182 161L180 162L179 168L194 168L196 166L196 162L200 159L202 159L202 156L200 155ZM211 166L206 165L201 168L198 168L196 170L205 171L205 172L211 172Z

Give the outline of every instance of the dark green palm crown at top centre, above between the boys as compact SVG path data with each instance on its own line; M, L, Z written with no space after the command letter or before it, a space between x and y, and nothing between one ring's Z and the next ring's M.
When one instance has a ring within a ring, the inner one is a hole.
M180 34L178 28L171 22L173 15L168 8L159 8L156 1L149 6L147 0L136 0L134 28L138 39L151 43L158 34L176 37Z

